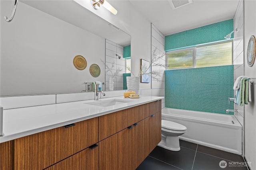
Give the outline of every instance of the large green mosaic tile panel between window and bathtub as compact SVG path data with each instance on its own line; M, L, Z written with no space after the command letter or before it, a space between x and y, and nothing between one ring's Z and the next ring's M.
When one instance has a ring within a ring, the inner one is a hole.
M226 114L234 109L234 67L214 66L166 70L165 107ZM229 113L233 115L233 113Z

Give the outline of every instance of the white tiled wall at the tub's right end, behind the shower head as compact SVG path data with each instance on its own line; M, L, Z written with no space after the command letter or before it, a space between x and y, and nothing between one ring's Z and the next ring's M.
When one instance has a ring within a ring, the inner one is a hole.
M242 0L239 1L234 16L234 30L236 29L238 31L234 31L233 39L234 81L239 76L244 75L244 3ZM244 106L234 104L234 109L238 110L238 113L234 113L234 115L242 125L242 148L244 155Z

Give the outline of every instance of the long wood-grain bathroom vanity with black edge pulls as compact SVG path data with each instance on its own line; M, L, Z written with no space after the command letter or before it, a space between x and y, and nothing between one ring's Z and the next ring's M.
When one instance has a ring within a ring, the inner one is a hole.
M90 114L74 119L82 121L66 121L69 123L52 129L48 126L46 131L42 131L46 127L38 127L39 133L34 133L38 129L33 127L31 135L20 132L23 137L16 134L18 138L10 141L1 137L0 169L135 170L161 141L161 99L129 99L131 102L102 108L102 112L100 107L90 109ZM71 103L84 108L89 105Z

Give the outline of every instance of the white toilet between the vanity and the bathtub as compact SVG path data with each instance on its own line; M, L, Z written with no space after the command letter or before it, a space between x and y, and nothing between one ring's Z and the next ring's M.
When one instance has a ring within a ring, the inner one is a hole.
M181 125L179 123L175 123L172 121L162 120L162 140L158 144L158 146L172 150L179 151L180 150L180 141L179 136L186 132L186 126Z

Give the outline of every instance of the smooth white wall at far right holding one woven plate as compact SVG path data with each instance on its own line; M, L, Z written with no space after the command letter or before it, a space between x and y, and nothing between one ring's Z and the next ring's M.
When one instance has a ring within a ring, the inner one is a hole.
M251 162L251 170L256 169L256 62L249 67L246 50L251 35L256 36L256 1L244 0L244 75L254 78L252 85L252 103L244 109L245 158Z

